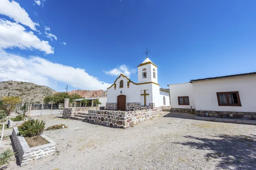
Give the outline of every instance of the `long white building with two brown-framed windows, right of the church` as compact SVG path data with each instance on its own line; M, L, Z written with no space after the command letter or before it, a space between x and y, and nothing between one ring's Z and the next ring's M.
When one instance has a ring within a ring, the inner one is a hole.
M172 111L200 116L256 118L256 72L169 85Z

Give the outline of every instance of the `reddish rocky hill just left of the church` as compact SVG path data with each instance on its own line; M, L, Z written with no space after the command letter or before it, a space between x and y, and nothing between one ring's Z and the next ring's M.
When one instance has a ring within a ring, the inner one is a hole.
M68 94L74 94L74 91L68 91ZM87 91L87 90L76 90L76 94L80 94L84 98L93 98L93 97L106 97L107 91L98 90L98 91Z

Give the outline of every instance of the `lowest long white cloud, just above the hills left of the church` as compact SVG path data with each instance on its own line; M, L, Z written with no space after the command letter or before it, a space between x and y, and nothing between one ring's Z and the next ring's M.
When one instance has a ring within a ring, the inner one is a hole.
M0 51L0 81L7 80L33 82L49 87L55 82L62 82L85 90L106 90L111 86L90 76L82 68L53 63L41 57L25 58Z

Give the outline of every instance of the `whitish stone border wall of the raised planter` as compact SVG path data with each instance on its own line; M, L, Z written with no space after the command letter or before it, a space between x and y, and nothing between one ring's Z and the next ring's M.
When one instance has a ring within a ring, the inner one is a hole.
M29 147L23 136L17 136L18 132L18 128L13 127L12 143L14 144L15 151L17 152L20 166L26 165L31 161L41 159L45 156L55 153L55 142L49 139L44 134L42 134L41 136L49 142L48 144L43 144L36 147Z

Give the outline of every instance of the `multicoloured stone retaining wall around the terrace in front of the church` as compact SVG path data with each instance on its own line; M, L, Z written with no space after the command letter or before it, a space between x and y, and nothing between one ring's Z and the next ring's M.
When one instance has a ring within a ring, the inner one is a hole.
M161 108L141 111L89 111L84 115L85 122L96 123L110 127L125 128L152 119L162 114Z

